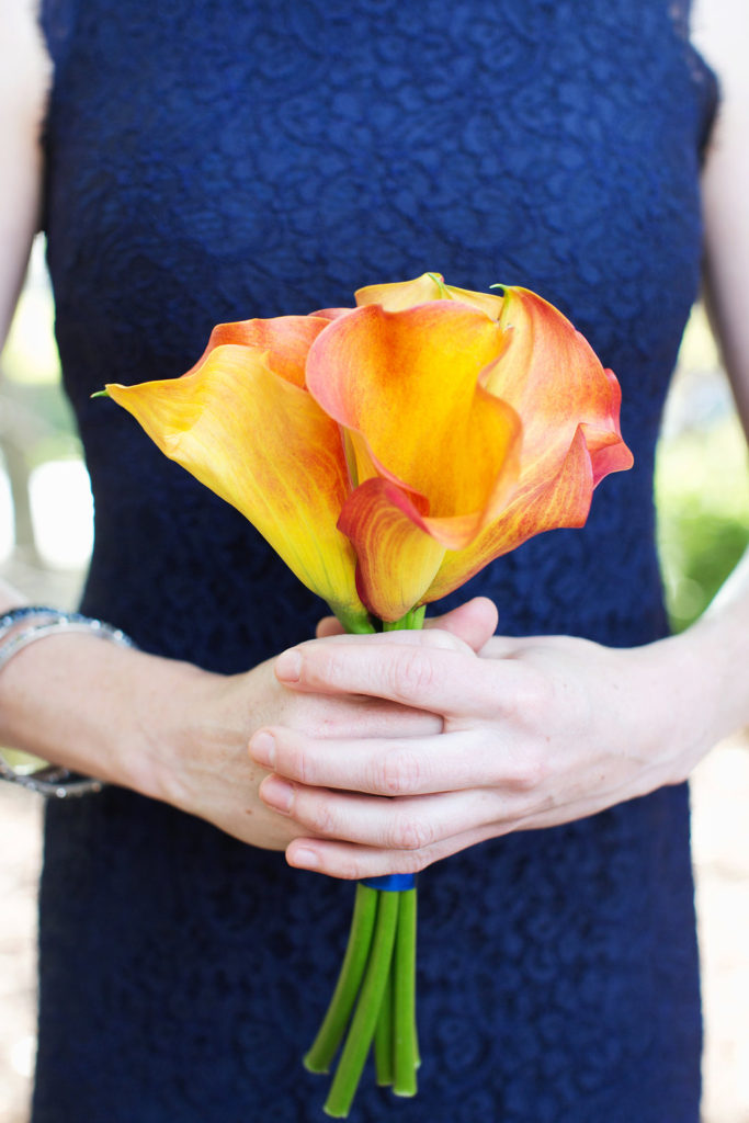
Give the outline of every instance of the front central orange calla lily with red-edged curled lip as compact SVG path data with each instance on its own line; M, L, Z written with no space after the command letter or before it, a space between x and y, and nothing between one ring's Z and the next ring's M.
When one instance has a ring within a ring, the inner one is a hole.
M481 309L430 301L362 307L310 348L309 391L344 428L357 484L339 527L354 542L359 595L383 620L421 603L446 551L506 506L521 428L483 384L505 346Z

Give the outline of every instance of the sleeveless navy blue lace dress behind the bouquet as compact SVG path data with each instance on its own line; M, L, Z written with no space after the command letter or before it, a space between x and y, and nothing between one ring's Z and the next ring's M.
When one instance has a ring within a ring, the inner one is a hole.
M666 621L654 446L698 285L714 83L686 0L46 0L45 228L95 497L83 609L246 669L322 605L164 459L104 382L179 375L212 325L442 272L558 304L618 374L636 467L583 531L500 559L508 633ZM688 801L669 787L420 878L415 1101L360 1123L696 1123ZM311 1123L300 1058L353 888L118 788L49 807L34 1123Z

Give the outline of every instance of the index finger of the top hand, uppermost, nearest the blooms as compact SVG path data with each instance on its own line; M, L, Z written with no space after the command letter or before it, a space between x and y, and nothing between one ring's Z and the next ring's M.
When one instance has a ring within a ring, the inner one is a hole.
M529 669L513 659L482 659L456 650L462 641L444 631L393 632L383 642L348 643L340 637L302 643L278 657L275 672L286 686L322 694L364 694L445 715L495 716L505 705L532 705ZM432 637L448 642L435 645ZM449 641L453 641L451 643ZM453 649L450 649L453 648Z

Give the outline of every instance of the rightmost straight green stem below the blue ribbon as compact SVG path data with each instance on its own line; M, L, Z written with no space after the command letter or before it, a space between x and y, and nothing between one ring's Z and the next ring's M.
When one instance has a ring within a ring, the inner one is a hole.
M393 952L393 1092L415 1096L419 1047L415 1035L417 891L399 893L398 933Z

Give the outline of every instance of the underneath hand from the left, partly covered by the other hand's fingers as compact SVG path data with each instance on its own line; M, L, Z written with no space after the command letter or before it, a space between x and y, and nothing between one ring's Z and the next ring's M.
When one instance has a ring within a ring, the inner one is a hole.
M481 648L494 631L496 612L491 601L479 599L448 613L442 624L460 636L469 649ZM331 626L326 630L330 631ZM407 641L405 633L395 640ZM307 647L325 642L329 640L312 641ZM436 634L433 642L441 645L445 639ZM310 833L309 827L280 814L258 796L258 787L268 774L247 754L249 738L258 728L280 725L329 743L357 738L374 743L383 738L428 737L441 728L435 714L394 700L358 692L351 695L346 691L291 690L276 677L275 660L231 676L158 661L164 674L184 675L190 685L175 691L165 683L157 696L149 696L143 685L129 692L145 706L139 725L148 743L141 759L152 763L148 794L254 846L285 849L292 839ZM164 710L167 696L179 700L176 709L167 705ZM154 723L153 714L158 712L162 721Z

